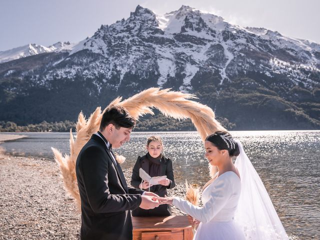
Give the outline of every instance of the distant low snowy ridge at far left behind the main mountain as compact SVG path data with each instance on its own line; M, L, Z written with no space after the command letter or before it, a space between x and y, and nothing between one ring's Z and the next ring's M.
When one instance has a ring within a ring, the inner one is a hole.
M7 62L21 57L32 56L44 52L70 50L73 44L70 42L58 41L50 46L42 46L35 43L30 43L24 46L15 47L9 50L0 51L0 63Z

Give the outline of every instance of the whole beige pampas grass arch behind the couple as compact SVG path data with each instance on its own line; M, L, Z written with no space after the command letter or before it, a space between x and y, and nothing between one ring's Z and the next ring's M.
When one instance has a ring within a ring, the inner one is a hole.
M212 109L206 105L193 101L196 98L193 94L170 91L170 89L148 88L123 101L122 97L115 98L110 105L121 105L136 119L144 114L153 114L152 107L160 110L162 114L176 119L190 118L198 131L202 141L205 137L217 130L225 130L221 124L215 120ZM105 108L106 109L106 108ZM104 110L105 110L104 109ZM103 111L104 111L103 110ZM79 151L90 139L91 135L99 128L103 112L97 107L86 120L80 112L76 123L76 137L74 138L70 130L70 154L62 156L61 152L52 147L54 158L59 165L61 177L66 191L74 198L80 209L80 195L75 175L75 161ZM209 165L211 166L211 165ZM210 167L210 175L213 176L215 167Z

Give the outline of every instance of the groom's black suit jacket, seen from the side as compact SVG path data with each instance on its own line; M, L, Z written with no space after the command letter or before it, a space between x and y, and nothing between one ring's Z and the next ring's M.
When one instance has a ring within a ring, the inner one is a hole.
M114 164L104 140L93 134L76 159L81 198L82 240L132 239L130 209L143 191L128 188L119 163Z

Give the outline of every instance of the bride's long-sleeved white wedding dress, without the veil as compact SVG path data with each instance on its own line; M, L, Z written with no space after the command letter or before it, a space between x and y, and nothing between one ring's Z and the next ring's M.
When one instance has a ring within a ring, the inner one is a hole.
M226 171L204 188L202 207L179 197L174 197L173 205L201 221L193 239L244 240L241 228L233 220L240 191L239 177L233 171Z

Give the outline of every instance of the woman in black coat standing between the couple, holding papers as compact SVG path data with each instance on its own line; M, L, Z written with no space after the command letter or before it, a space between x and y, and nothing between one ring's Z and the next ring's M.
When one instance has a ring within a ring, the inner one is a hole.
M145 190L150 188L149 191L163 197L167 195L167 189L173 188L175 185L172 161L162 154L163 143L159 136L150 136L146 142L146 149L148 152L143 156L138 156L134 164L131 185ZM151 177L166 175L166 179L158 181L157 185L150 185L139 177L140 167ZM131 214L132 216L169 216L171 215L171 207L168 204L148 210L137 207L131 211Z

